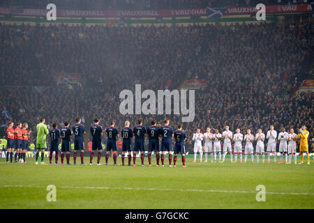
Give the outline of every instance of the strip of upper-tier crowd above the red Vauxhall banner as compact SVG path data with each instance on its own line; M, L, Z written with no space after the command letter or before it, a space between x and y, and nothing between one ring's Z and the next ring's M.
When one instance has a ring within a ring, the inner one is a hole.
M14 1L24 8L46 8L51 1L22 0ZM57 8L81 10L144 10L144 9L176 9L176 8L206 8L225 6L256 6L257 3L269 5L309 3L306 0L54 0ZM1 1L1 6L12 6L12 1Z

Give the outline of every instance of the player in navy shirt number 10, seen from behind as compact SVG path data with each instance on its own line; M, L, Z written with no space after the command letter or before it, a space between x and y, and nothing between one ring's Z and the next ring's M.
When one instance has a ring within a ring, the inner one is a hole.
M130 129L130 122L126 121L124 123L124 128L121 130L121 136L122 136L122 155L121 155L121 161L122 166L124 166L124 157L128 153L128 166L130 166L130 162L132 160L131 157L131 139L133 138L133 132Z

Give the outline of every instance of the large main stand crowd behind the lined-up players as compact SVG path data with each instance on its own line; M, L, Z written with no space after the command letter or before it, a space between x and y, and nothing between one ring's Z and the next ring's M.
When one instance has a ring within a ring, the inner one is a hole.
M187 144L197 128L267 132L269 125L301 128L313 138L313 93L295 93L313 79L313 23L280 25L221 24L189 26L13 26L0 25L0 106L15 123L35 132L38 118L63 126L82 116L91 124L100 116L122 128L128 119L174 128L179 115L129 115L119 112L119 93L176 89L184 79L207 79L195 91L195 120L184 123ZM57 84L54 72L79 72L81 85ZM40 86L40 87L38 87ZM8 119L1 116L1 123ZM1 133L4 135L3 128ZM31 138L32 139L32 138Z

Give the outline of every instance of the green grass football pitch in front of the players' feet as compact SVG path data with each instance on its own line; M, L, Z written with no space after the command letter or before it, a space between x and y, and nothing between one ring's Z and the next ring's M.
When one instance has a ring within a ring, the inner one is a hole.
M27 161L0 158L0 208L314 208L312 157L310 165L296 165L252 164L251 157L247 163L230 163L229 157L225 163L193 163L188 156L188 168L181 156L177 167L167 166L167 156L165 167L156 167L154 157L151 167L141 167L140 157L136 167L121 166L119 157L118 167L112 157L108 166L105 157L101 166L95 158L93 166L80 166L80 159L77 166ZM47 201L48 185L56 187L55 202ZM265 201L256 200L257 185L264 185Z

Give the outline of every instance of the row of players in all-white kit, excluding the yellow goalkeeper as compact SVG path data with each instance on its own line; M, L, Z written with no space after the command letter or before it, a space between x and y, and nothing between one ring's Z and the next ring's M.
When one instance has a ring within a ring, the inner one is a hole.
M276 141L279 142L279 152L281 153L281 162L283 163L283 155L285 155L285 163L291 164L292 155L294 156L294 163L297 164L297 134L294 133L293 128L290 129L290 133L285 132L285 128L281 128L281 132L278 134L274 130L274 126L270 126L270 130L267 132L266 139L268 139L267 144L267 156L268 162L270 163L270 154L274 153L274 162L276 163ZM225 131L223 134L219 133L219 130L216 129L211 132L210 128L207 128L207 132L202 134L200 129L197 129L197 132L193 134L194 143L194 161L196 162L197 153L200 153L200 162L202 162L203 151L205 153L205 162L207 162L208 154L211 155L211 162L217 162L217 154L219 156L218 162L225 162L225 155L230 153L230 160L233 162L232 155L232 141L234 141L234 162L237 162L238 155L240 157L240 162L242 162L242 141L244 141L244 162L246 162L248 155L251 155L251 160L254 162L253 154L253 141L256 143L256 159L257 162L260 162L260 155L262 155L262 162L265 162L265 151L264 151L264 142L265 134L262 133L262 129L258 129L255 137L251 134L251 130L247 130L247 134L243 136L240 129L237 128L236 133L232 134L229 130L229 126L225 126ZM202 146L202 141L204 141L204 146ZM221 141L223 141L223 149L221 148ZM204 149L204 150L203 150ZM221 160L221 154L223 152L223 160ZM289 155L289 161L288 161Z

